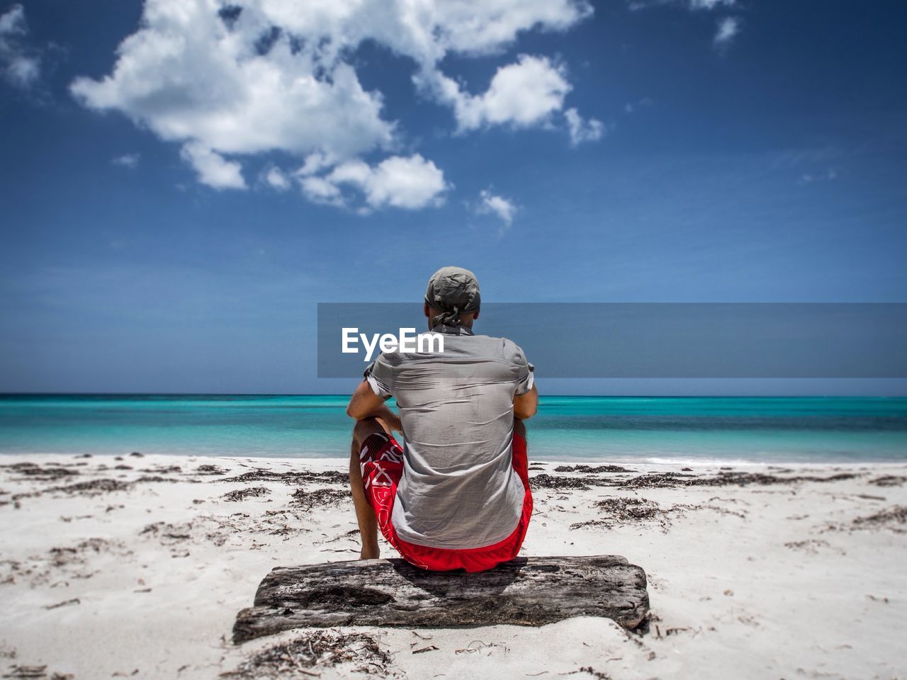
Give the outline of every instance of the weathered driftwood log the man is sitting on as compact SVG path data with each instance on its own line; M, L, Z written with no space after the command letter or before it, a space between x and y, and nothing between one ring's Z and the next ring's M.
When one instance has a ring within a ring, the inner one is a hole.
M274 568L233 640L297 627L541 626L608 617L639 626L649 610L646 572L618 555L518 558L478 574L432 572L402 559Z

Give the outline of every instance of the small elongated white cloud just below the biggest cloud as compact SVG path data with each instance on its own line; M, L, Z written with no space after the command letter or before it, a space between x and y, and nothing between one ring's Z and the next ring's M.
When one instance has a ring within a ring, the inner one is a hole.
M305 171L297 175L299 186L311 200L349 205L341 190L349 186L362 193L367 209L439 206L444 202L444 192L450 189L444 172L418 153L408 158L391 156L374 167L362 160L349 160L321 177Z

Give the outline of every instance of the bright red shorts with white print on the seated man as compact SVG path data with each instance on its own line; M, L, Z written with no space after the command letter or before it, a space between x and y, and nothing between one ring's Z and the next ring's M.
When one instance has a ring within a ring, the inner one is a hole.
M519 475L525 490L522 514L510 536L483 548L429 548L407 543L397 536L391 522L391 512L394 510L397 483L403 475L403 450L394 437L383 433L366 437L366 441L362 442L362 451L359 452L359 468L366 487L366 498L375 509L378 528L403 559L416 567L432 571L485 571L515 558L520 552L532 517L532 492L529 490L526 442L519 434L513 434L513 470Z

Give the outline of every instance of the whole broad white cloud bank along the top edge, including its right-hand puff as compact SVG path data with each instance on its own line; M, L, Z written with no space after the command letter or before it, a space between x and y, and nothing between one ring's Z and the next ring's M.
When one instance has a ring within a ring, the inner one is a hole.
M464 129L525 127L561 111L571 89L561 66L522 57L472 95L439 64L451 53L500 52L530 30L564 31L591 14L587 0L145 0L141 27L118 48L112 73L77 78L71 91L89 108L122 112L162 140L190 144L182 156L193 167L204 158L218 169L200 171L218 178L212 186L244 186L239 162L271 151L317 160L307 170L315 176L401 145L382 93L358 79L358 45L411 58L420 82L450 83L453 99L426 92L452 105ZM390 197L386 204L396 205Z

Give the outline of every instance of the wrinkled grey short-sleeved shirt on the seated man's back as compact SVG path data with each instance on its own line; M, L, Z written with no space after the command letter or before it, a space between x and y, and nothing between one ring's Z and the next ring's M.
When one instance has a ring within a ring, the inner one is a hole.
M513 396L532 389L533 367L510 340L462 326L443 330L443 353L385 353L366 369L375 394L396 398L403 423L404 471L391 521L416 545L483 548L510 536L520 520Z

